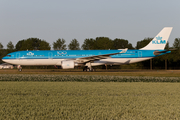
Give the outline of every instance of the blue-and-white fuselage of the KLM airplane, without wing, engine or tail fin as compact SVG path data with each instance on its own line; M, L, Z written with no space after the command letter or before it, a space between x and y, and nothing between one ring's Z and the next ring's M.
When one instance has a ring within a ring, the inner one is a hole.
M3 57L3 61L15 65L61 65L60 61L100 56L104 54L119 53L122 50L43 50L43 51L17 51ZM153 57L157 57L170 51L154 54L164 50L127 50L126 53L111 55L106 59L93 60L92 65L102 64L129 64ZM127 62L128 61L128 62Z

